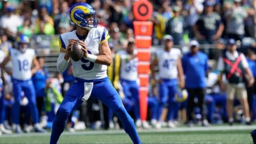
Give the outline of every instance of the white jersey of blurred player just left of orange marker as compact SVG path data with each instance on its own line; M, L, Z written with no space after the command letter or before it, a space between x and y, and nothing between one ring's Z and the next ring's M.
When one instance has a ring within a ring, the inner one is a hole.
M138 58L128 60L129 56L127 52L120 54L120 78L136 81L138 79Z

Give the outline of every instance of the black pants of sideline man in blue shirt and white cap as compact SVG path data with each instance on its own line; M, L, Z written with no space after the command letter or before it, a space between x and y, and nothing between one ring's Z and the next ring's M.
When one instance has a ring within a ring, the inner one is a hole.
M200 108L200 114L202 118L205 118L204 115L204 95L205 89L204 88L186 88L188 92L188 100L187 100L187 121L193 120L193 112L196 105ZM198 102L196 104L195 98L197 97Z

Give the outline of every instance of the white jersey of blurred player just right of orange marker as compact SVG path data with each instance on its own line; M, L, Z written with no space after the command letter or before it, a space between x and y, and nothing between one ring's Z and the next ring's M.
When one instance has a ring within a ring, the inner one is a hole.
M170 52L160 50L156 52L158 59L159 77L161 79L176 79L178 77L177 60L181 57L181 51L176 48Z

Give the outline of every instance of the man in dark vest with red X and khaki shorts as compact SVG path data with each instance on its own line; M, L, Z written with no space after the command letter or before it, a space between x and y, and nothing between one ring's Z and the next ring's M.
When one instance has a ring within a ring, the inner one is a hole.
M242 105L243 114L245 116L246 125L250 125L249 107L247 101L247 92L243 76L246 76L248 86L251 87L254 83L254 78L249 69L248 62L244 54L237 52L237 43L234 39L228 39L227 51L224 53L218 61L217 69L222 75L226 75L226 94L227 94L227 113L228 123L230 126L233 125L233 100L236 95ZM247 78L248 77L248 78ZM220 86L224 89L222 79L219 81Z

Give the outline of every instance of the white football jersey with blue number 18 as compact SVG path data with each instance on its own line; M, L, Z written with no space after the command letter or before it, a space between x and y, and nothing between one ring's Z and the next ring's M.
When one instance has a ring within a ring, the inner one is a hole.
M10 49L12 77L22 81L31 79L32 61L35 56L35 51L33 49L27 49L25 53L16 49Z

